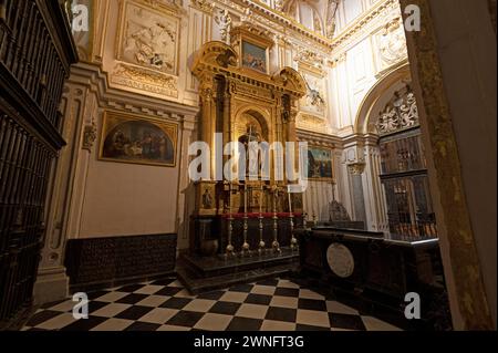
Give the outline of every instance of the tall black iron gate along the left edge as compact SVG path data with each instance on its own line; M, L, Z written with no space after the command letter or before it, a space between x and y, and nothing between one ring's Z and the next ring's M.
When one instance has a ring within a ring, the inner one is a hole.
M58 0L0 0L0 330L29 311L43 245L59 112L77 61Z

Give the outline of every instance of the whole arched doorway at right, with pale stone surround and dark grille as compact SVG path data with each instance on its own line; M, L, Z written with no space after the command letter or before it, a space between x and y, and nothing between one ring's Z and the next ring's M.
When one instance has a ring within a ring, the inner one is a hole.
M406 240L437 237L418 111L409 83L408 64L387 73L364 98L355 126L365 139L362 194L369 228Z

